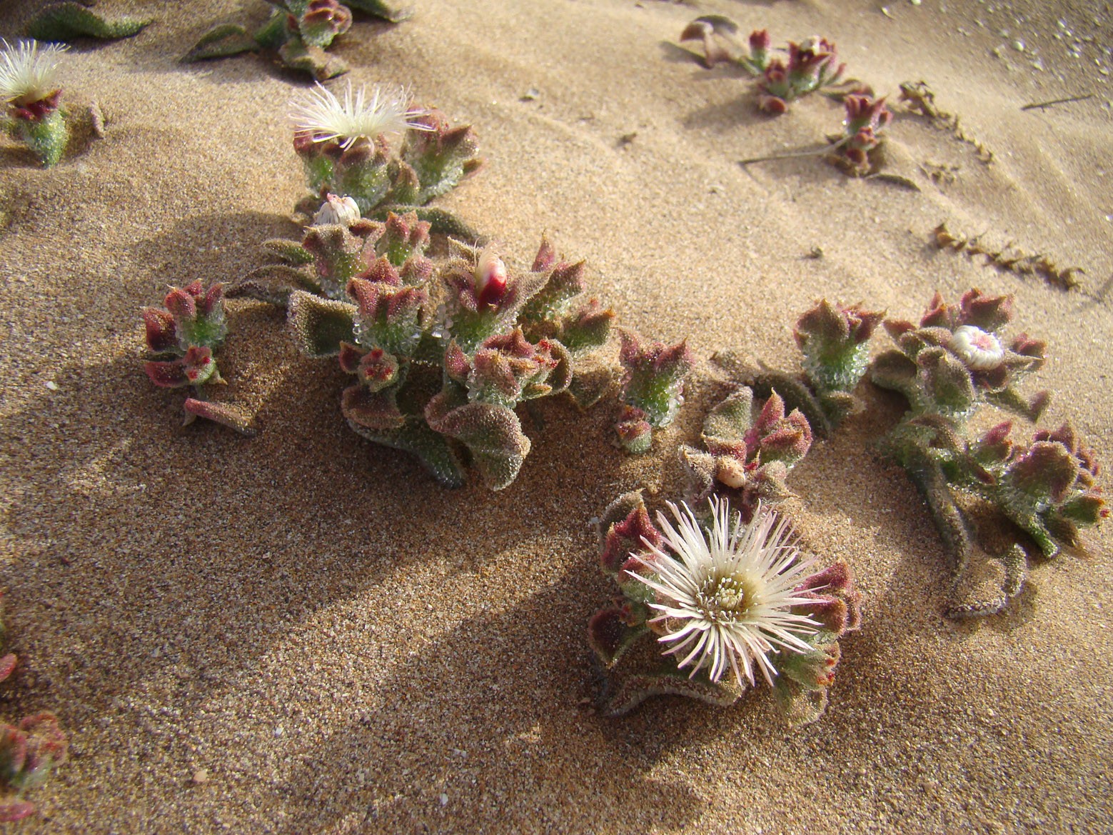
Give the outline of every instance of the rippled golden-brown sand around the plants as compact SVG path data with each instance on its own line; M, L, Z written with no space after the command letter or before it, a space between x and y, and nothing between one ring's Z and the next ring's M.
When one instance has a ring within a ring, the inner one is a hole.
M707 358L791 367L791 324L820 296L915 317L936 289L1014 294L1012 332L1051 344L1025 387L1055 393L1044 424L1071 421L1113 462L1107 4L416 3L338 41L351 78L404 82L473 124L487 166L442 205L519 266L548 230L622 324L688 337L688 404L631 460L610 443L613 403L546 401L510 489L445 491L352 433L344 374L237 301L221 369L262 432L180 428L181 397L142 374L138 310L297 236L285 111L304 84L255 56L177 63L262 3L102 0L158 19L67 57L67 100L98 100L106 137L51 170L0 145L0 586L20 656L0 714L53 710L72 743L20 831L1109 832L1113 525L1034 564L1004 616L945 619L943 548L870 445L899 409L868 385L871 411L789 479L808 548L848 560L864 593L820 721L786 730L764 688L603 718L584 641L612 593L589 519L638 487L679 495L676 446L722 393ZM9 4L0 35L41 4ZM879 91L928 81L993 163L899 117L887 170L918 193L818 159L743 170L821 143L840 109L756 114L749 82L673 46L700 13L775 43L826 35ZM953 177L934 184L930 165ZM1083 267L1081 286L939 252L943 220Z

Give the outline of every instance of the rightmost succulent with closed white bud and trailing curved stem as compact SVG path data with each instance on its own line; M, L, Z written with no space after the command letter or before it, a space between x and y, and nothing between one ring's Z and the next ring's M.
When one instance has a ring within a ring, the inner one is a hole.
M898 350L876 357L870 371L877 385L899 392L908 403L880 448L904 466L924 497L956 584L974 551L973 524L957 501L959 493L995 507L1048 558L1063 544L1076 544L1080 527L1109 515L1094 482L1097 464L1070 425L1037 431L1026 445L1008 439L1011 422L971 438L967 423L984 404L1032 422L1047 406L1047 392L1025 400L1015 387L1043 365L1045 344L1020 334L1006 347L1001 331L1012 318L1012 296L972 289L957 305L948 305L936 294L918 325L886 321ZM1023 550L1009 548L997 559L1005 566L1002 593L952 606L952 616L996 613L1020 593L1026 573Z

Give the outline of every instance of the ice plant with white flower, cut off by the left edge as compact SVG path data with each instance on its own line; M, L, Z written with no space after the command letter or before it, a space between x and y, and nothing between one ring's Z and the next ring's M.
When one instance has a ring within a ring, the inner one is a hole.
M57 165L69 140L56 75L69 47L33 40L0 40L0 99L8 131L45 166Z

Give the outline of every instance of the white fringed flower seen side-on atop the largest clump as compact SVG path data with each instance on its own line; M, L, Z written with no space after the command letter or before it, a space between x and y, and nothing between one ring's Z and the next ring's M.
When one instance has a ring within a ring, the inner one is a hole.
M424 110L407 107L404 90L384 87L353 89L347 82L343 101L318 81L313 89L290 102L289 118L294 129L313 137L316 143L339 139L349 148L361 137L374 139L382 134L400 134L406 128L432 130L414 121Z

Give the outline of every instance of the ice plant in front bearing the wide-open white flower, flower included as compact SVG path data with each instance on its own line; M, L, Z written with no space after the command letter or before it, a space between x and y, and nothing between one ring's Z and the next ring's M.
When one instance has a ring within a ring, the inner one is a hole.
M669 507L676 524L658 513L654 527L640 493L628 493L600 522L600 566L622 591L589 623L609 670L604 709L622 714L661 694L727 705L760 674L792 724L818 718L838 639L860 625L849 568L811 573L787 520L766 509L747 523L720 499L706 520ZM617 669L649 635L661 647L656 659L643 652L639 669Z

